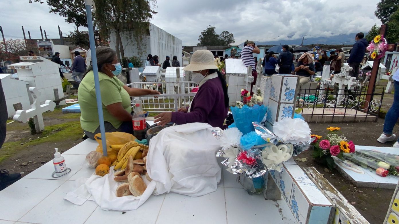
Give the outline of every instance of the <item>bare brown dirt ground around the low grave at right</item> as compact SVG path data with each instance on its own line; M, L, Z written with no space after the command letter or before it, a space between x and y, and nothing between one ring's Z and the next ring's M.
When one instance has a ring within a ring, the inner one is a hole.
M309 124L309 126L310 130L312 130L312 134L326 133L326 128L330 126L340 127L342 134L354 141L356 145L391 147L394 142L385 144L377 142L377 138L382 133L383 124L384 120L378 119L377 122L372 123L326 123ZM399 132L398 125L395 126L393 132ZM383 223L394 189L356 188L348 180L344 179L336 169L326 172L326 167L315 163L310 150L304 151L298 157L307 158L306 162L297 162L300 167L313 166L320 173L324 174L324 177L334 185L349 202L354 202L352 203L353 206L367 219L367 221L371 224Z

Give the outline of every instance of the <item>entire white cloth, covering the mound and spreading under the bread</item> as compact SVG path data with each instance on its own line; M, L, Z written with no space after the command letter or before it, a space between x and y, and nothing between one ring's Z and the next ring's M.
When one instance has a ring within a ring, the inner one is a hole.
M114 170L104 177L91 175L76 180L75 189L64 197L73 204L95 201L103 210L136 210L152 194L179 193L192 197L217 190L221 169L216 160L219 142L211 131L220 130L205 123L172 126L160 131L150 141L147 172L152 178L141 196L117 197L117 187L124 182L114 181Z

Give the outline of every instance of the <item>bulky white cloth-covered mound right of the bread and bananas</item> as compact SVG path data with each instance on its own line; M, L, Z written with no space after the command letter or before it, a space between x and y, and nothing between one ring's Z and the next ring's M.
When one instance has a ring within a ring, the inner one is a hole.
M217 190L221 169L216 152L221 148L205 123L176 125L150 141L147 172L155 183L154 195L174 192L192 197Z

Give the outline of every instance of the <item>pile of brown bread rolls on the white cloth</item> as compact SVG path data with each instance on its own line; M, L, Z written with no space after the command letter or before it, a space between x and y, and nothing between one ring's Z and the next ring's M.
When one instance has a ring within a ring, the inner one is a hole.
M143 159L135 159L130 156L127 161L125 169L115 171L114 180L117 182L126 182L119 185L116 191L118 197L121 196L140 196L146 190L146 184L144 183L141 175L145 174L148 181L151 181L146 171L146 156Z

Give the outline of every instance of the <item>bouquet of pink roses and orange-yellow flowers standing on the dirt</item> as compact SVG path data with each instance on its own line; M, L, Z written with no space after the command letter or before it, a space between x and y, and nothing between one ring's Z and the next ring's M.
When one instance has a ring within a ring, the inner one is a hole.
M316 161L326 164L330 170L335 168L335 162L332 156L342 159L343 154L355 152L355 144L353 141L348 141L344 135L340 134L340 129L341 128L338 127L327 128L329 132L324 139L322 136L311 135L314 139L312 141L312 157L314 157Z

